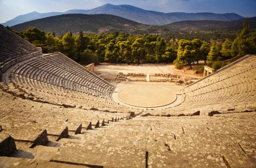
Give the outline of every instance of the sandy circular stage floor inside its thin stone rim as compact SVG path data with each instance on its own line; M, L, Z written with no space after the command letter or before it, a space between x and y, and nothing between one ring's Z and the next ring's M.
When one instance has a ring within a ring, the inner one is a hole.
M128 105L153 108L173 103L177 95L169 88L144 84L123 88L119 91L118 98Z

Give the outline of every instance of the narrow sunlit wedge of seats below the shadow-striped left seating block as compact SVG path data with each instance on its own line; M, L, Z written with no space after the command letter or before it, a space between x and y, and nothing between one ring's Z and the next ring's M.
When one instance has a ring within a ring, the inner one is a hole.
M20 81L22 81L22 83L20 83ZM28 93L28 95L30 94L33 95L36 100L40 99L42 101L47 101L55 104L64 103L64 104L76 105L78 107L82 106L85 109L91 109L94 107L101 111L108 110L108 111L130 112L132 110L132 109L117 105L115 102L111 100L107 100L104 98L91 97L90 95L84 94L82 92L71 91L69 89L50 85L41 81L31 80L26 77L19 78L18 76L18 78L16 77L16 82L14 83L18 84L20 89L25 91L25 93ZM31 88L31 85L35 87Z

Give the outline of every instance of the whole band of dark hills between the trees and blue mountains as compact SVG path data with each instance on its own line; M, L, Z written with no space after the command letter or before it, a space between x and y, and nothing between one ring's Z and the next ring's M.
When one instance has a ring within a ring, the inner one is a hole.
M27 21L11 26L15 31L23 31L36 27L47 32L63 33L72 31L78 33L126 32L132 34L159 33L163 31L193 31L193 30L224 30L240 31L244 19L235 21L179 21L168 25L144 25L135 21L110 14L61 14L48 18ZM256 29L256 17L249 18L251 29Z

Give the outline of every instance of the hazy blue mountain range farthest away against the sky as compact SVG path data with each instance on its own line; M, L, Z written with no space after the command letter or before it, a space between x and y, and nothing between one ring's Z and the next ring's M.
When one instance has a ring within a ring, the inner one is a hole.
M29 14L20 15L10 21L2 23L4 26L13 26L25 21L60 15L60 14L112 14L132 21L136 21L146 25L166 25L177 21L188 20L216 20L216 21L233 21L244 17L234 14L214 14L214 13L162 13L157 11L147 11L131 5L112 5L105 4L101 7L96 7L90 10L74 9L66 12L50 12L38 13L32 12Z

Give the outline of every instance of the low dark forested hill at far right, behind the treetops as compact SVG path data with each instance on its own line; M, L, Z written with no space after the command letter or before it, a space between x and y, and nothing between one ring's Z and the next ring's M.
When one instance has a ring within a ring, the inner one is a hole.
M241 30L243 27L244 19L235 21L179 21L168 25L163 25L163 28L177 29L177 30L215 30L215 29L226 29L229 31L233 29ZM256 29L256 17L249 18L250 28Z

